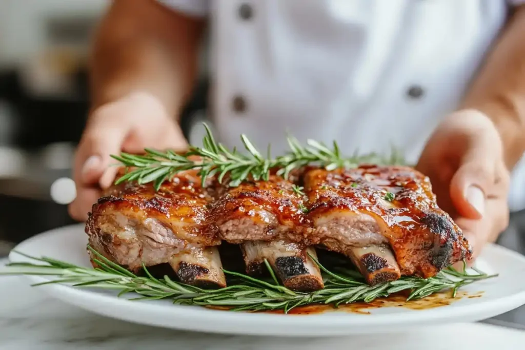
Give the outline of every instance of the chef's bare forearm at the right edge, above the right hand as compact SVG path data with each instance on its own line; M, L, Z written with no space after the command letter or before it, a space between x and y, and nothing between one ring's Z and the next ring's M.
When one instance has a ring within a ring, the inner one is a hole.
M525 6L513 15L468 92L464 108L496 125L511 169L525 152Z

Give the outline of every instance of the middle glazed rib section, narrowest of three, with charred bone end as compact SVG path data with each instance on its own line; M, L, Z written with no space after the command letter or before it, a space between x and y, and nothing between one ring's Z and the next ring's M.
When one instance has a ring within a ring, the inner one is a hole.
M249 274L264 271L266 259L282 283L297 291L323 288L319 267L305 245L308 227L303 199L280 176L269 181L249 181L238 187L222 187L210 219L220 238L239 244Z

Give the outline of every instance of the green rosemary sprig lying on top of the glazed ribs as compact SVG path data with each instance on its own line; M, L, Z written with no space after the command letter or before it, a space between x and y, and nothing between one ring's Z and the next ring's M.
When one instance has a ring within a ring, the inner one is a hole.
M274 167L279 168L279 175L287 178L293 169L312 163L330 170L338 167L356 167L363 163L400 164L404 162L400 153L394 149L392 155L387 158L377 154L359 156L357 153L351 157L344 157L335 141L331 148L314 140L308 140L307 145L302 145L292 136L287 139L290 152L272 158L269 146L267 155L263 156L246 135L241 135L240 139L245 152L240 153L236 149L229 150L223 144L215 141L206 124L204 128L206 134L203 138L203 147L190 146L189 151L185 154L145 149L144 155L129 153L112 155L120 162L120 165L133 168L117 179L117 183L124 181L137 181L140 184L153 182L155 188L159 189L161 184L174 174L199 169L203 184L207 178L218 174L219 182L222 182L228 175L229 185L238 186L248 177L255 180L267 180L270 168Z

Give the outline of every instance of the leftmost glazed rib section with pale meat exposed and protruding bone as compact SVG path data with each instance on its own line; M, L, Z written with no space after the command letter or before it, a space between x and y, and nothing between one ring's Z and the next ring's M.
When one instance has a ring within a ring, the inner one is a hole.
M151 184L113 186L89 214L89 244L131 271L169 263L184 283L225 287L220 240L206 222L210 200L193 171L178 174L159 191Z

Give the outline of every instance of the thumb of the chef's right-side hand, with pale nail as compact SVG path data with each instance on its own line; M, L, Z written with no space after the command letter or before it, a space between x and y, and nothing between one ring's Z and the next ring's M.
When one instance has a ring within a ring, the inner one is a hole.
M450 198L460 216L480 219L485 214L486 195L494 182L490 157L476 150L468 154L450 181Z

